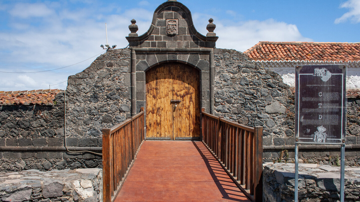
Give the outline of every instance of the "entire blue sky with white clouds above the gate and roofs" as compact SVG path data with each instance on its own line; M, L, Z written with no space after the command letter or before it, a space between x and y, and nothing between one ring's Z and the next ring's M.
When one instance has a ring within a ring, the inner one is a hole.
M65 89L66 82L58 83L103 52L105 23L109 44L125 47L130 20L136 19L143 34L164 1L0 0L0 91L48 89L49 84ZM207 20L214 19L219 48L245 51L259 41L360 41L360 0L179 1L203 35ZM62 69L1 73L56 68Z

